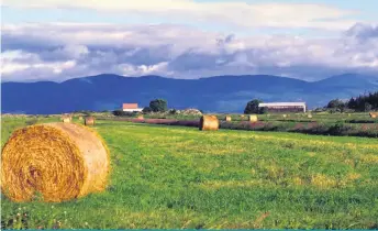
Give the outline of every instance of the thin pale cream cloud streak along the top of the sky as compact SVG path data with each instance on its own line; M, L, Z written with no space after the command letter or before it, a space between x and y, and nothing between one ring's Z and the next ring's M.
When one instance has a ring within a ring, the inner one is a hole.
M345 30L355 21L347 20L357 11L314 3L246 3L243 1L193 0L4 0L13 8L85 9L111 14L157 16L169 21L240 28L310 28Z

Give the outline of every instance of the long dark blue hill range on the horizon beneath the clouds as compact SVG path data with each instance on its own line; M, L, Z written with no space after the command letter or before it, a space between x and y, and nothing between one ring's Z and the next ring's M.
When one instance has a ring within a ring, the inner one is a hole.
M309 82L256 75L171 79L159 76L99 75L64 82L2 82L2 113L63 113L76 110L114 110L123 102L148 106L164 98L169 108L198 108L207 112L242 112L247 101L305 101L310 108L331 99L348 99L378 90L378 78L355 74Z

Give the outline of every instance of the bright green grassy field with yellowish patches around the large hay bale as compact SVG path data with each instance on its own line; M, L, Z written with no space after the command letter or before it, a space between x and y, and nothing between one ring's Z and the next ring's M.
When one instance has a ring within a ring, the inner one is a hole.
M25 122L3 119L1 144ZM63 204L2 196L2 228L378 229L377 139L94 129L111 151L107 191Z

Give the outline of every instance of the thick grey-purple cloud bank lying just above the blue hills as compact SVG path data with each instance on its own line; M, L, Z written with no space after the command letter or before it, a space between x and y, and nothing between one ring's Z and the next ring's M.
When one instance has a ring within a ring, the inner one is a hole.
M371 26L359 26L366 30L308 38L179 25L5 24L1 74L7 81L62 81L103 73L174 78L270 74L308 80L351 72L377 75L378 40L368 33L369 40L362 41Z

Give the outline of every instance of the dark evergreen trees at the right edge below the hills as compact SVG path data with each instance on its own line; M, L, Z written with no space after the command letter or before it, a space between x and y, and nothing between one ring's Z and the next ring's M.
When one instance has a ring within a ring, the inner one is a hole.
M358 97L353 97L347 101L340 99L333 99L325 107L327 109L338 110L344 112L346 110L353 111L371 111L378 110L378 91L370 92L368 95L362 95Z

